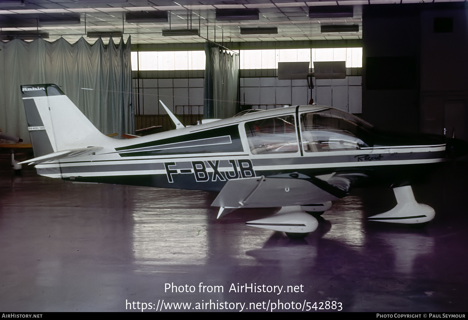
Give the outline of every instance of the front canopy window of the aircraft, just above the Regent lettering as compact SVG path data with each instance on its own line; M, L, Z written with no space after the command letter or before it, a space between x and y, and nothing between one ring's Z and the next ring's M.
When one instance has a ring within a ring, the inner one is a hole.
M356 135L359 131L358 124L352 119L327 111L300 116L300 135L305 152L357 150L361 146L367 146Z

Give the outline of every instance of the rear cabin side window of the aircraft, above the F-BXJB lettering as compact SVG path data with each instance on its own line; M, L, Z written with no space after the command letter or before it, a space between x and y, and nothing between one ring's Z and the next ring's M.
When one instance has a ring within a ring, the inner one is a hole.
M252 154L296 153L299 151L294 116L251 121L245 124Z

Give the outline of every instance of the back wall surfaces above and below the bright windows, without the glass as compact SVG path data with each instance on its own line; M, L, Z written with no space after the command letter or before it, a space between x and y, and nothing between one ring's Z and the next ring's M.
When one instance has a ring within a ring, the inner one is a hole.
M203 44L135 45L133 51L200 50ZM290 49L360 47L356 40L330 41L283 41L263 43L231 43L234 49ZM333 106L355 114L361 113L361 68L347 68L346 79L314 80L313 98L317 104ZM203 70L133 71L135 92L136 128L169 123L158 100L161 99L178 115L189 115L186 121L192 124L203 114ZM241 105L254 109L272 109L285 104L307 104L310 89L307 80L278 80L276 69L241 69ZM158 122L163 123L158 123ZM186 123L190 124L190 123ZM169 124L170 125L170 124Z

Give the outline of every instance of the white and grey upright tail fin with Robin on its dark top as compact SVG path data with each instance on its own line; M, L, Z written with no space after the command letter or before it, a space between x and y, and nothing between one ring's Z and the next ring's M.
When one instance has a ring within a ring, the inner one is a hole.
M21 86L34 156L109 145L107 137L54 84Z

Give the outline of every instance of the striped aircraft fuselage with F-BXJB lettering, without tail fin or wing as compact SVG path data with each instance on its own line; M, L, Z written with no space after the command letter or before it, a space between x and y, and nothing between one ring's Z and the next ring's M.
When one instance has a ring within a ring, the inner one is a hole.
M368 182L407 184L446 159L443 137L355 128L351 118L337 120L329 110L334 109L273 109L115 139L112 148L38 164L37 172L81 182L219 191L232 179L307 178L350 170L366 174Z

